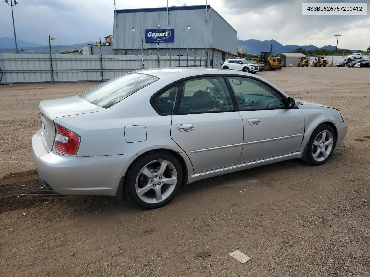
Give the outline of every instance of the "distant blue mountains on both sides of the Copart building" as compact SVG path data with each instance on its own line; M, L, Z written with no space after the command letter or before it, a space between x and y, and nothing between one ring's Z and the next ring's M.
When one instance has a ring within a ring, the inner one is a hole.
M259 55L261 51L270 51L272 43L272 51L275 54L286 53L295 51L296 48L301 47L306 50L313 50L317 48L325 48L328 50L334 50L335 46L333 45L325 45L323 47L317 47L315 45L282 45L276 40L238 40L238 46L243 48L244 53L256 54ZM95 44L93 41L88 41L79 44L73 45L52 45L52 52L56 53L57 51L67 51L67 50L74 50L74 49L81 49L81 47L87 44ZM49 45L41 45L34 42L27 42L23 40L17 39L17 46L18 48L23 48L23 53L48 53L49 52ZM339 49L339 48L338 48ZM14 38L9 37L2 37L0 38L0 53L14 53ZM351 50L356 51L356 50Z

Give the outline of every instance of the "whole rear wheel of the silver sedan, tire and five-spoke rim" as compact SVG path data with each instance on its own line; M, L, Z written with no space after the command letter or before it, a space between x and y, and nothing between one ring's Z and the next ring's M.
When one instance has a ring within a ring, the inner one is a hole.
M126 174L124 192L139 208L156 209L175 197L182 179L183 170L174 155L153 151L132 163Z

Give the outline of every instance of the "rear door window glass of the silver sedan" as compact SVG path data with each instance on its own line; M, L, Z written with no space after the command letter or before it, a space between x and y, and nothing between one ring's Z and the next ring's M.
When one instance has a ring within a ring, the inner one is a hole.
M179 113L234 110L229 90L221 76L184 81Z

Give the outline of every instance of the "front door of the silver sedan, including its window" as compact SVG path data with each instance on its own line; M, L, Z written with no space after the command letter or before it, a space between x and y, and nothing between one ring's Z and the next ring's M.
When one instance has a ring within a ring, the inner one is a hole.
M243 150L239 163L276 157L299 150L305 130L300 109L287 109L286 99L265 82L227 78L243 119Z

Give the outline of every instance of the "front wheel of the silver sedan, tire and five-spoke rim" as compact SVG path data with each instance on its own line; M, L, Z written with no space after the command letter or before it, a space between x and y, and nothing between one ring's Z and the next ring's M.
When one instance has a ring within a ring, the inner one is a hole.
M333 128L327 124L318 126L312 133L307 153L306 163L322 165L329 160L336 145L336 135Z

